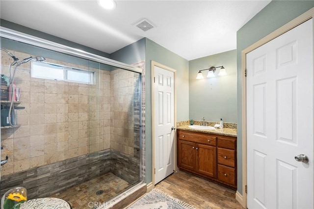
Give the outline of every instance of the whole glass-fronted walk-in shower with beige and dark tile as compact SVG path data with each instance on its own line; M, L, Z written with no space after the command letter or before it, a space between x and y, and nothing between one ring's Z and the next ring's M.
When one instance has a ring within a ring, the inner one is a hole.
M19 65L13 80L21 98L12 104L18 123L1 126L1 159L9 159L0 168L1 196L23 186L29 199L56 197L80 209L110 203L143 185L144 61L127 65L14 39L1 37L1 48L19 60L45 57L46 63L93 78L38 78L32 74L38 60ZM10 77L11 70L12 79L15 60L7 52L1 50L1 75ZM41 70L54 74L44 65Z

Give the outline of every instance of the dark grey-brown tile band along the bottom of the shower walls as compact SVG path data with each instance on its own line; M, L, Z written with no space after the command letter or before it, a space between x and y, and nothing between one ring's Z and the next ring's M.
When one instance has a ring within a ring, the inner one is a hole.
M49 197L59 191L111 172L131 185L139 183L139 159L107 149L1 177L0 196L23 186L29 199Z

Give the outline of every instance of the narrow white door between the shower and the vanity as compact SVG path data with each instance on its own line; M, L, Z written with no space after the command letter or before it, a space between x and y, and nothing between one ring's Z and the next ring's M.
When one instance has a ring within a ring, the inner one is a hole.
M174 72L154 66L155 184L175 169Z

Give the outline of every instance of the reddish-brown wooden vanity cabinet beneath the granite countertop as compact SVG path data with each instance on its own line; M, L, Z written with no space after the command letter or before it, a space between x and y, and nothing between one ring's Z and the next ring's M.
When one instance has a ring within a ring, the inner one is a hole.
M236 137L177 131L180 169L236 189Z

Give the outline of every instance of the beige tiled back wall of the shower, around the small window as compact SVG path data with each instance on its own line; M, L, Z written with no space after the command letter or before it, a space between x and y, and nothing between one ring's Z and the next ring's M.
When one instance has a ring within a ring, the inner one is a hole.
M30 54L12 52L20 60ZM1 74L9 75L9 59L1 53ZM72 63L47 62L88 69ZM18 124L1 129L1 176L110 148L110 72L96 72L96 84L31 78L30 63L16 73L22 89Z

